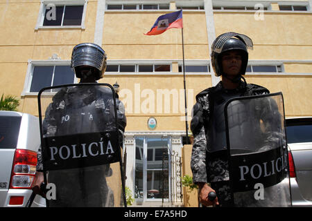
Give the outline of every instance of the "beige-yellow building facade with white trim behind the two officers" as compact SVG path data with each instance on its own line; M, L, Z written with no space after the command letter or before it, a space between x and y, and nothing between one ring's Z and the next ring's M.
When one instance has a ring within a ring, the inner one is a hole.
M73 46L102 46L108 66L99 82L118 82L127 115L126 186L144 202L182 202L182 29L144 35L157 17L180 9L188 123L195 96L220 81L209 48L229 31L254 43L248 83L281 91L286 117L312 115L311 0L1 0L0 93L19 97L19 111L38 115L40 88L78 82L69 67Z

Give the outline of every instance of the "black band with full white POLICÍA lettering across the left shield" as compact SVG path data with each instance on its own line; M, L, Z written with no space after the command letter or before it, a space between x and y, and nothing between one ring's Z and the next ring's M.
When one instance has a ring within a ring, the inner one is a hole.
M44 168L47 171L74 169L119 162L115 131L45 137Z

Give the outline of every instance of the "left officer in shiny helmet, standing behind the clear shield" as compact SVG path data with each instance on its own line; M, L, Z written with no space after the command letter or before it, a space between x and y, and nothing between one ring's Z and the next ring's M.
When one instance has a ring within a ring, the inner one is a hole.
M71 55L71 68L73 68L76 77L80 78L80 83L96 83L98 79L103 78L107 66L107 56L105 51L96 44L83 43L73 48ZM96 93L94 93L97 90ZM105 90L97 87L84 88L61 88L53 97L53 102L46 108L46 114L43 122L44 136L63 135L71 133L92 133L98 130L109 131L113 123L112 116L107 114L105 108L112 106L112 99L105 97ZM71 99L76 96L76 99ZM71 102L68 102L71 101ZM76 109L77 108L77 109ZM119 131L119 144L123 143L123 133L126 126L125 108L122 102L116 98L117 124ZM76 113L79 110L81 113ZM105 114L106 113L106 114ZM78 116L78 117L76 117ZM69 120L71 119L71 120ZM42 155L38 151L37 174L34 186L40 186L43 182ZM87 171L88 170L88 171ZM83 172L82 172L83 171ZM87 172L86 172L87 171ZM53 172L53 171L52 171ZM77 169L72 173L86 173L89 179L94 179L99 185L89 184L89 189L93 189L88 199L74 198L70 189L66 186L59 188L60 194L72 194L71 199L58 200L55 206L113 206L114 202L107 202L109 189L107 188L105 176L110 175L110 166L102 165L96 169ZM58 176L56 173L50 173L50 177ZM84 175L85 176L85 175ZM67 182L77 184L80 182L76 175L56 179L60 186ZM70 180L71 179L71 180ZM81 180L81 179L80 179ZM96 183L92 182L92 183ZM91 182L90 182L91 183ZM84 202L83 202L84 201ZM53 203L53 201L51 201Z

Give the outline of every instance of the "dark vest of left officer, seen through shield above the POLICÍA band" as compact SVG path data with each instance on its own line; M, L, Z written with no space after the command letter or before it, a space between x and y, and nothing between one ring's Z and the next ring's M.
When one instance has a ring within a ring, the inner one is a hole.
M103 88L72 89L67 96L73 94L77 99L70 99L71 103L68 103L65 96L59 108L50 112L55 119L55 135L113 131L114 104L112 99L107 98L111 95Z

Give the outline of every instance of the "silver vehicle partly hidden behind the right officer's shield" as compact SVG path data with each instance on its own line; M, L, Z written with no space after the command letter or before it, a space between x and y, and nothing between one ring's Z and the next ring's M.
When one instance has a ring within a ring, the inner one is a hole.
M286 119L293 206L312 206L312 117Z

